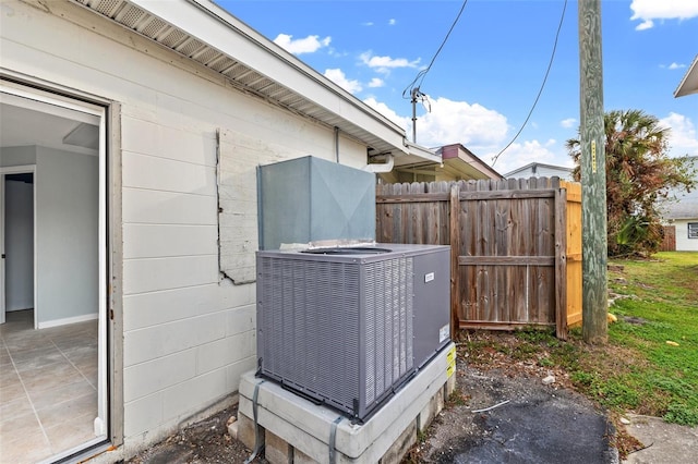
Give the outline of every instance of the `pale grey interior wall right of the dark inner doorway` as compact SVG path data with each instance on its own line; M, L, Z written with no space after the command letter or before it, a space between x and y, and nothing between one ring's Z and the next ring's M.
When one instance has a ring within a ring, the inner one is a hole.
M36 148L39 328L98 313L98 158Z

